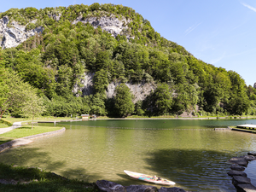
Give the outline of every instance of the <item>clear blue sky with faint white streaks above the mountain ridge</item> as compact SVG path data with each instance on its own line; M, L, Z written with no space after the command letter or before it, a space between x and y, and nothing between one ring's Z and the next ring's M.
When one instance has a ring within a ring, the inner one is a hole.
M255 0L12 0L3 1L0 11L96 2L131 7L162 37L182 45L196 58L236 71L247 85L256 82Z

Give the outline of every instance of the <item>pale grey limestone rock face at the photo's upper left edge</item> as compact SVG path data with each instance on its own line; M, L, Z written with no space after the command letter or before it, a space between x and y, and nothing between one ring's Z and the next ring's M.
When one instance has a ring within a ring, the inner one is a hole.
M35 20L32 20L32 22L34 23ZM36 33L42 33L44 31L44 27L41 26L26 31L26 26L20 26L16 21L12 21L9 26L8 24L8 16L0 19L0 45L2 49L16 47Z

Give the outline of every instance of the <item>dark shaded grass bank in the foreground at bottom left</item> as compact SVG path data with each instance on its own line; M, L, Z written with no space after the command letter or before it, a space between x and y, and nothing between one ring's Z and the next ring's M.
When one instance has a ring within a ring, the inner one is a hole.
M26 168L0 164L0 178L14 179L18 184L0 183L0 191L42 191L42 192L74 192L97 191L92 183L85 183L76 179L66 179L51 172L44 172L38 168ZM31 182L23 184L22 182Z

